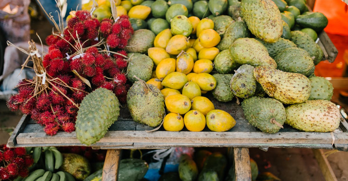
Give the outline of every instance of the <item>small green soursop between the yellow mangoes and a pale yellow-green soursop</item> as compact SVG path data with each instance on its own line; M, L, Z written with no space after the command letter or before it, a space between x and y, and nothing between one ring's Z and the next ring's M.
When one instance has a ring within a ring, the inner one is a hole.
M240 66L236 63L230 54L229 50L223 50L216 55L214 59L214 68L220 74L228 74Z

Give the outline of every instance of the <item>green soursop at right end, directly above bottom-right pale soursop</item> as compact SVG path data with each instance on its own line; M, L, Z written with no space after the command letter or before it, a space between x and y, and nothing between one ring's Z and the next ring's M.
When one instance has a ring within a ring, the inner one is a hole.
M312 89L308 100L327 100L330 101L333 95L333 86L329 80L324 77L309 78Z

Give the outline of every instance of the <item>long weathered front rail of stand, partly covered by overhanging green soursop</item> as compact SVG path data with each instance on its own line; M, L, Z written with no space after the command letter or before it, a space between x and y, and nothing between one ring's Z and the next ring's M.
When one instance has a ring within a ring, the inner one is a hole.
M348 144L348 133L333 133L336 144ZM191 132L191 131L108 131L98 143L179 143L179 144L331 144L331 133L322 132ZM76 133L20 133L18 144L79 143ZM93 145L92 145L93 146Z

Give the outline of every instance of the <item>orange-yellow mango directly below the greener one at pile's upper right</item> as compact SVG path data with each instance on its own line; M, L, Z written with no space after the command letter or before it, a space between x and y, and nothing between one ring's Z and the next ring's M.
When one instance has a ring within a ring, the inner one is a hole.
M211 48L219 44L221 37L214 29L205 29L199 34L198 40L205 48Z

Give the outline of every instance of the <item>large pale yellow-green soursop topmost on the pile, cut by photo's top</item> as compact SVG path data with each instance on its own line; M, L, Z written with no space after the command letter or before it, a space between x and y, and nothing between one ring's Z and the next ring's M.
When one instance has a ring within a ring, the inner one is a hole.
M249 30L256 37L272 43L282 36L282 16L272 0L242 0L240 10Z

